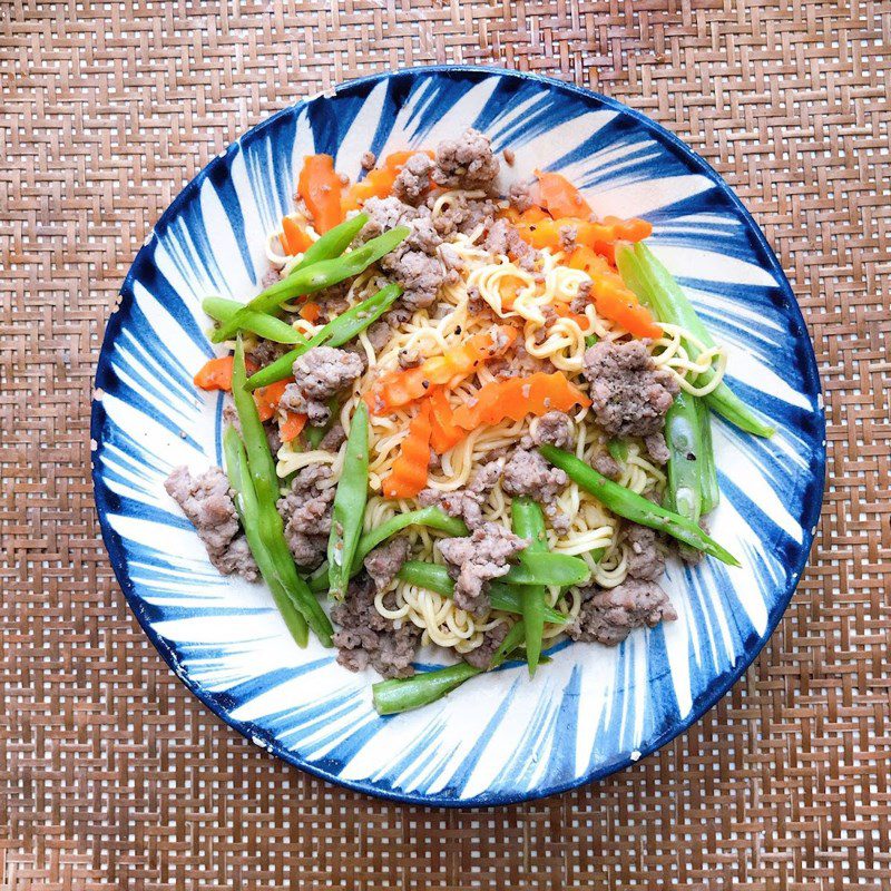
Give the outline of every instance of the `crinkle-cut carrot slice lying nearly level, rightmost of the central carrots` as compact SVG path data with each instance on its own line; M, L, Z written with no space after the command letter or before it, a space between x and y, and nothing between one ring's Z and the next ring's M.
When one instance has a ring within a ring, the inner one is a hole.
M476 400L476 401L473 401ZM590 405L590 400L560 371L536 372L528 378L508 378L481 386L473 400L454 410L454 423L464 430L492 427L506 418L519 421L527 414L569 411ZM471 404L472 402L472 404Z

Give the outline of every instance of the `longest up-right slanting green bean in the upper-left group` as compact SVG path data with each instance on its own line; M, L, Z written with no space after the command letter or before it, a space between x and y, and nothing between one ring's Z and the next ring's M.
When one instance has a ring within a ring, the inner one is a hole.
M288 300L323 291L339 282L343 282L345 278L359 275L372 263L376 263L381 257L389 254L405 238L411 229L408 226L396 226L394 229L365 242L361 247L343 254L343 256L320 260L316 263L311 263L309 266L296 270L292 275L282 278L254 297L245 305L244 310L239 310L228 322L222 324L214 332L210 340L214 343L221 343L232 337L241 327L244 314L247 312L273 312Z

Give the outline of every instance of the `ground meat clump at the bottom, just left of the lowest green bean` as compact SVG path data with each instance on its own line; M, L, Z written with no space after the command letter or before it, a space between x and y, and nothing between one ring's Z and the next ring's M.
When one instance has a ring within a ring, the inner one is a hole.
M374 608L374 582L361 572L350 581L343 603L331 610L341 626L334 634L337 663L351 672L371 665L384 677L411 677L421 631L411 623L396 628Z

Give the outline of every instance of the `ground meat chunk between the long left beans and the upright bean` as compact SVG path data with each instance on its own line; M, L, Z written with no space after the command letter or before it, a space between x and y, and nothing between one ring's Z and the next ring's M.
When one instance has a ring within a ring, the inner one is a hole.
M305 569L315 569L325 557L334 490L331 468L309 464L294 477L291 491L276 505L294 562Z

